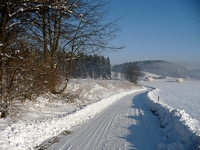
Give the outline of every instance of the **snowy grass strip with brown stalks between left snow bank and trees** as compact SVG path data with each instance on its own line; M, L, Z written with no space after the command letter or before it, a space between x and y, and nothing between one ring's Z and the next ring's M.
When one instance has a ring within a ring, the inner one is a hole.
M71 79L64 94L55 96L49 93L39 97L37 102L26 102L22 119L36 120L70 114L102 98L138 88L130 82L117 80ZM11 122L9 118L0 119L0 126Z

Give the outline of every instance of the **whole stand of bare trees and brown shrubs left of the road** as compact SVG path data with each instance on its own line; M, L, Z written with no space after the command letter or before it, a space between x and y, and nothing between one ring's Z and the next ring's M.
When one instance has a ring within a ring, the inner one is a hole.
M19 114L24 101L34 101L42 93L62 93L73 60L82 54L122 48L109 43L119 28L118 19L106 19L107 4L103 0L0 1L1 118Z

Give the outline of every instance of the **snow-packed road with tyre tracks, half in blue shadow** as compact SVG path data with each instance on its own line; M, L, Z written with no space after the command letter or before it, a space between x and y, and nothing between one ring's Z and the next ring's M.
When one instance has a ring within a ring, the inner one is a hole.
M115 102L49 149L156 150L164 143L157 117L143 104L146 92L136 92Z

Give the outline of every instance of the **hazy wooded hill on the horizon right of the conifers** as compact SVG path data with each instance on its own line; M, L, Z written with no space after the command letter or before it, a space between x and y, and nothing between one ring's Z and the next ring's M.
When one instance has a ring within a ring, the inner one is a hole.
M138 65L141 71L155 73L162 76L171 76L179 78L185 77L187 72L187 69L185 67L163 60L148 60L123 63L120 65L113 66L112 71L123 73L125 66L130 63Z

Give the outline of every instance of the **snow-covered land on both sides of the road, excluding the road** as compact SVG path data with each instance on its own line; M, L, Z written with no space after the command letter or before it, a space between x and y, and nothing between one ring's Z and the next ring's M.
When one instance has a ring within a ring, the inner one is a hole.
M157 145L157 149L199 150L199 81L173 81L168 78L140 82L149 86L149 92L142 96L143 102L158 116L163 137L171 141ZM71 101L63 98L64 95L43 96L34 105L27 103L30 109L21 121L0 120L0 149L37 149L48 138L54 143L58 134L70 133L73 127L93 118L120 98L144 88L121 81L71 80L68 90Z

